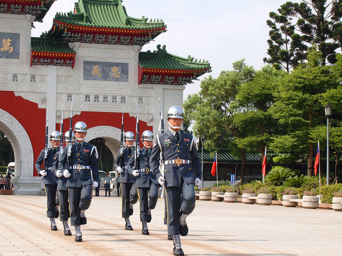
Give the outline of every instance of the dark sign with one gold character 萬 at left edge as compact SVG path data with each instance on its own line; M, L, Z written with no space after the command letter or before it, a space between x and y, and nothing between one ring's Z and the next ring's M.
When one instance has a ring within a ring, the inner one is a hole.
M19 59L20 34L0 32L0 58Z

